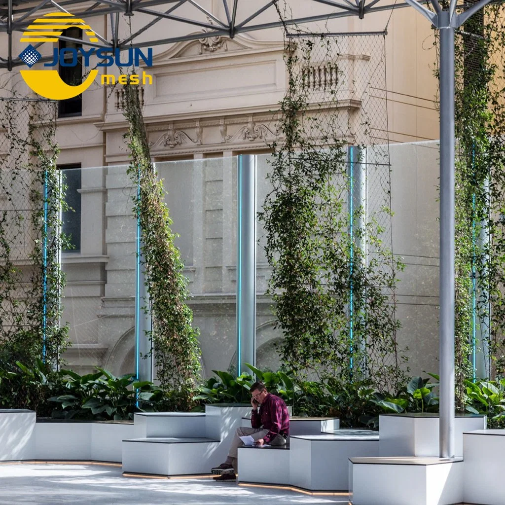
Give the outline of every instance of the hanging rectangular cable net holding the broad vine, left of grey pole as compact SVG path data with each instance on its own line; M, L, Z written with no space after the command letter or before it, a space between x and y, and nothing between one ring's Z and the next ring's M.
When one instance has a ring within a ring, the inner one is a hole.
M261 216L284 332L281 358L299 370L316 364L333 376L394 388L404 358L396 340L401 265L391 251L385 33L286 38L289 88L269 174L274 190ZM306 226L296 237L268 221L284 213L293 225L297 216L286 209L300 201ZM294 249L306 250L298 258L287 248L297 240ZM317 265L310 274L306 256ZM285 281L290 269L298 271L298 292ZM300 295L304 302L296 301Z

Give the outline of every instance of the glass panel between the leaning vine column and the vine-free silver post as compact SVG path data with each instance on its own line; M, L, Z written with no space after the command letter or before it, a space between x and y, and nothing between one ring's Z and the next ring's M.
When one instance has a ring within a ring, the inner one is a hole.
M235 370L236 158L156 164L189 279L202 375Z

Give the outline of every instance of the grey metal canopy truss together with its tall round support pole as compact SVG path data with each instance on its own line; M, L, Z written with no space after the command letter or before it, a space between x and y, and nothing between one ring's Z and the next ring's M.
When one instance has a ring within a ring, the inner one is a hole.
M239 0L222 0L226 19L219 19L201 6L196 0L96 0L93 4L84 0L39 0L27 3L25 0L0 0L0 32L8 34L8 54L0 57L0 68L12 68L21 65L19 58L12 56L12 36L15 32L23 32L31 21L46 12L59 10L82 18L93 16L110 16L112 39L98 35L100 43L88 43L91 46L109 48L112 50L129 47L152 46L168 44L183 40L194 40L215 36L233 38L237 33L245 33L281 25L301 25L316 21L326 21L334 18L357 16L363 19L365 14L384 10L411 6L422 14L436 29L440 31L440 327L439 327L439 362L440 362L440 457L452 458L455 455L455 416L454 416L454 319L455 319L455 32L473 14L484 8L492 0L450 0L448 7L443 8L439 0L405 0L399 4L386 4L384 0L304 0L312 2L316 7L326 6L327 12L308 17L296 17L290 12L286 19L271 23L258 23L258 17L268 9L279 11L279 0L263 0L262 6L245 19L239 18ZM242 2L244 0L241 0ZM250 1L250 0L249 0ZM288 3L288 0L286 0ZM387 0L386 0L387 2ZM379 5L382 3L382 5ZM501 3L501 1L499 2ZM164 6L163 10L156 7ZM181 7L192 6L193 17L177 15ZM426 6L431 7L430 10ZM168 7L168 9L167 9ZM457 11L460 11L458 13ZM119 38L119 17L133 16L142 13L153 19L138 29L131 36ZM182 23L188 27L196 27L198 33L168 37L162 40L145 40L139 42L138 36L151 26L162 20L171 23ZM60 36L64 40L74 40ZM86 44L87 42L78 40Z

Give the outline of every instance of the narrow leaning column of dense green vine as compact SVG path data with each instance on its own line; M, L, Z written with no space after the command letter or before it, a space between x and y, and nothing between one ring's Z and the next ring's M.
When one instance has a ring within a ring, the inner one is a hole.
M136 86L128 85L124 90L124 115L129 125L125 136L131 154L128 174L139 188L134 197L134 209L142 233L156 376L162 389L176 392L179 407L188 410L192 407L200 369L198 330L192 327L193 314L186 305L188 281L182 274L180 252L174 245L172 221L163 201L165 191L151 162Z

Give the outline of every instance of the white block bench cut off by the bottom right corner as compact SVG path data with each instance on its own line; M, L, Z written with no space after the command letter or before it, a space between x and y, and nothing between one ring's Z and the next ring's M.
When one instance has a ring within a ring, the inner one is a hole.
M504 455L505 430L463 433L465 502L505 505Z

